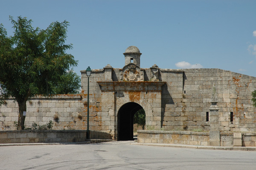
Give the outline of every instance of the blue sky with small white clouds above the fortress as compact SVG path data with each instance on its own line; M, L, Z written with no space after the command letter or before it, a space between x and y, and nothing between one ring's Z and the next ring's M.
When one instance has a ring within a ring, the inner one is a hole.
M74 71L107 64L122 68L137 46L140 67L218 68L256 77L256 0L1 0L0 23L13 35L9 15L34 28L67 20L67 53Z

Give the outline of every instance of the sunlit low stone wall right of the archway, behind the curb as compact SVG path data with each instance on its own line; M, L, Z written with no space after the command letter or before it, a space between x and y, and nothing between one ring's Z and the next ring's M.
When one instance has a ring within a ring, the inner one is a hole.
M138 143L209 146L209 132L138 130ZM241 133L243 147L256 147L256 133ZM220 146L233 147L233 133L220 133ZM240 146L241 146L240 145Z

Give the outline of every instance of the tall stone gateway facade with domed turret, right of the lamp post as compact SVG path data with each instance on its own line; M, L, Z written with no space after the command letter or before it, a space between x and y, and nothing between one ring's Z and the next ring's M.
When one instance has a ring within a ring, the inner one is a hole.
M143 108L148 130L210 130L213 85L221 132L256 132L251 93L256 78L222 69L140 68L140 50L125 50L125 66L94 69L90 104L96 126L117 139L132 138L132 118ZM82 93L87 76L81 71ZM215 119L216 120L216 119ZM92 124L93 126L93 124ZM129 131L129 133L128 133Z

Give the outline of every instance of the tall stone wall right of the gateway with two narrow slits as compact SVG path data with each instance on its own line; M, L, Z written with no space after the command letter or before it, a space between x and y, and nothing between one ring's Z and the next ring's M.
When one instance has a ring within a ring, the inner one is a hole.
M163 127L166 130L209 130L207 112L212 86L217 90L219 130L256 132L256 108L251 93L256 78L222 69L183 69L183 74L160 69ZM233 121L230 114L233 112Z

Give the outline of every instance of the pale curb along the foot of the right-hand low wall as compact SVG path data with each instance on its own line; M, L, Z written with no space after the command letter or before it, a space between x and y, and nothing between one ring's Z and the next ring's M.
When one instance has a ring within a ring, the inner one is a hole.
M256 147L213 147L213 146L197 146L197 145L180 145L180 144L150 144L150 143L131 143L142 146L152 147L182 147L193 149L207 149L207 150L244 150L244 151L256 151Z

